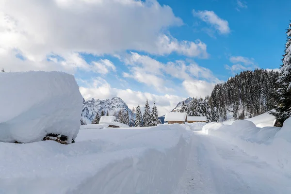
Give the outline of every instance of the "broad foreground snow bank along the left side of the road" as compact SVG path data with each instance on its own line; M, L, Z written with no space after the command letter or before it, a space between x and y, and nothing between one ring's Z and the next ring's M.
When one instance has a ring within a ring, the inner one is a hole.
M80 130L76 143L0 143L0 193L170 194L185 170L191 131Z

